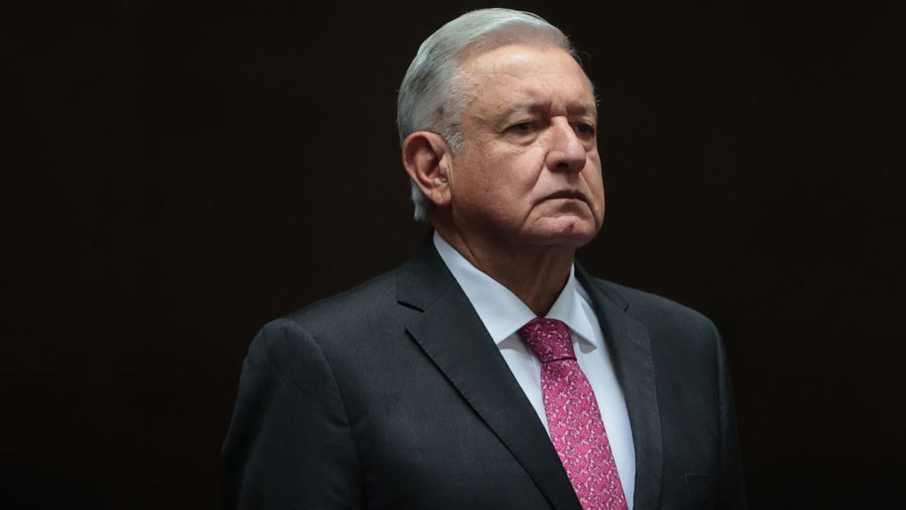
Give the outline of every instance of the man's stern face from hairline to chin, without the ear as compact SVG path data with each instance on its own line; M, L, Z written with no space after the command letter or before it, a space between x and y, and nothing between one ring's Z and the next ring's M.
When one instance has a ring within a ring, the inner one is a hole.
M459 230L507 248L592 240L604 216L597 113L573 57L511 44L461 67L473 99L448 176Z

